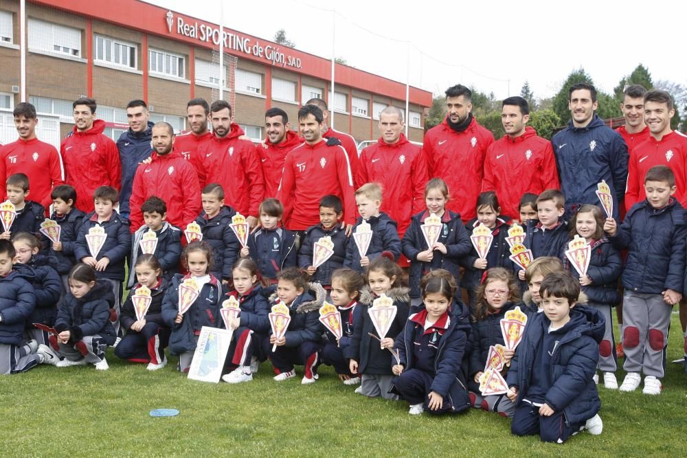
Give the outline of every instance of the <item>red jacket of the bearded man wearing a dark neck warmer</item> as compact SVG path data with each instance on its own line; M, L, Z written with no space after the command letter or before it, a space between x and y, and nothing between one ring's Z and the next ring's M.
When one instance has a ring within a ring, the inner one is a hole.
M460 133L444 119L425 134L423 154L429 178L438 177L446 182L453 196L446 208L460 213L463 222L477 216L475 203L482 189L484 155L493 143L494 135L475 119Z

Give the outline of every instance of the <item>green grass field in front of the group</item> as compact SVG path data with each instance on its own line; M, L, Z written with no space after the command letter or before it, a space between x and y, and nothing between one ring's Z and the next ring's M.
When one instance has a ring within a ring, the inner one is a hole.
M669 360L682 356L679 332L668 350ZM253 382L213 385L178 374L174 357L152 373L111 350L107 359L104 372L43 365L0 377L3 457L678 457L686 450L687 376L677 364L668 365L661 396L600 385L602 435L581 433L559 446L513 437L509 420L484 411L408 415L405 402L354 394L330 367L322 367L314 385L300 385L302 372L274 382L269 363ZM619 382L623 376L618 371ZM181 413L148 415L158 408Z

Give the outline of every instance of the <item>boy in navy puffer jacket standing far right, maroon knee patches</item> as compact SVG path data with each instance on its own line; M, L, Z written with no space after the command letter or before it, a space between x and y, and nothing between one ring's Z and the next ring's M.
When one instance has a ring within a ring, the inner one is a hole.
M644 372L644 394L660 394L665 374L668 326L673 304L682 299L687 251L687 216L673 198L675 175L666 165L644 176L646 200L627 211L618 227L612 218L604 230L618 249L627 249L622 272L623 368L620 391L634 391Z

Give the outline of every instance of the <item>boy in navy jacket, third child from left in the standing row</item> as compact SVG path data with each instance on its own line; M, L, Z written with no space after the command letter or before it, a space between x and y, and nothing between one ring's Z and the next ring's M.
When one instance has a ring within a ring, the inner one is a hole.
M111 186L100 186L95 190L93 193L95 211L84 217L83 225L76 236L74 256L78 261L94 268L96 277L105 279L111 284L115 301L113 310L110 311L110 321L117 336L121 336L120 301L122 282L124 282L124 259L131 250L131 234L128 220L114 211L117 197L117 190ZM102 242L100 251L91 253L86 236L89 235L89 230L95 227L102 227L106 238Z

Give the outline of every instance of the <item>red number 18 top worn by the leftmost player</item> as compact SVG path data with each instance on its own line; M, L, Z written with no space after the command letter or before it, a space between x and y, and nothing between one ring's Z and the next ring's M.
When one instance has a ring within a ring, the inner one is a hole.
M15 173L28 176L30 199L46 209L52 205L52 188L65 184L60 153L51 144L36 138L17 139L0 148L0 198L3 201L6 198L5 181Z

